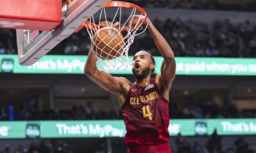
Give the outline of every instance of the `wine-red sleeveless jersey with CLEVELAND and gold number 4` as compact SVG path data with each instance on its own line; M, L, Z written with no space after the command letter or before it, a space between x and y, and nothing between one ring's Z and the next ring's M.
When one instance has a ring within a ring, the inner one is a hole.
M131 85L122 112L127 132L124 140L128 147L168 142L168 101L153 78L145 88L135 82Z

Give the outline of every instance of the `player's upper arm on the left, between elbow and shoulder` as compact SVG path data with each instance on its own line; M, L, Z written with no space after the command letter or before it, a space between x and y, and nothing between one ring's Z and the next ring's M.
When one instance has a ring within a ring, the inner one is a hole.
M96 70L92 75L87 75L97 85L113 94L122 92L121 79L113 77L109 73Z

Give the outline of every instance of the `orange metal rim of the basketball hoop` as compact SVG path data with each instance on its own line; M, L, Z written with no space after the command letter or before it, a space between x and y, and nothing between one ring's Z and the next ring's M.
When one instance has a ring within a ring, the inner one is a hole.
M123 7L123 8L136 8L136 10L139 10L143 15L145 16L145 19L142 22L142 25L146 23L147 21L147 13L143 8L140 6L137 6L136 4L127 3L123 1L109 1L106 5L104 5L102 8L110 8L110 7ZM100 25L93 24L92 22L86 20L84 22L83 26L89 28L89 29L100 29L102 28ZM127 31L129 27L115 27L118 31Z

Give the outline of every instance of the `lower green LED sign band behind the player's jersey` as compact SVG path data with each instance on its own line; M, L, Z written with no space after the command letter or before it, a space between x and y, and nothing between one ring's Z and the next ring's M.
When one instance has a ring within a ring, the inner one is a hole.
M256 135L256 119L172 119L170 136ZM124 137L123 120L1 121L0 139Z

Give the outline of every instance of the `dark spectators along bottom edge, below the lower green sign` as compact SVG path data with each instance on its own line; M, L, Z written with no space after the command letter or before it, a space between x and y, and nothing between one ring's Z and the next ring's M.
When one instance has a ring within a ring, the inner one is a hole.
M249 145L248 140L243 136L239 136L232 142L223 143L223 136L218 135L216 131L212 135L207 136L205 142L189 140L188 137L182 136L180 133L172 137L174 144L171 145L173 152L176 153L254 153L253 147ZM198 139L199 140L199 139ZM251 145L254 142L250 142ZM89 152L106 153L106 144L97 142L97 149L90 148ZM17 145L18 147L10 147L6 144L0 146L0 153L72 153L72 147L61 140L40 140L40 142L31 142L30 145ZM115 150L115 149L114 149ZM81 150L82 152L82 150Z

